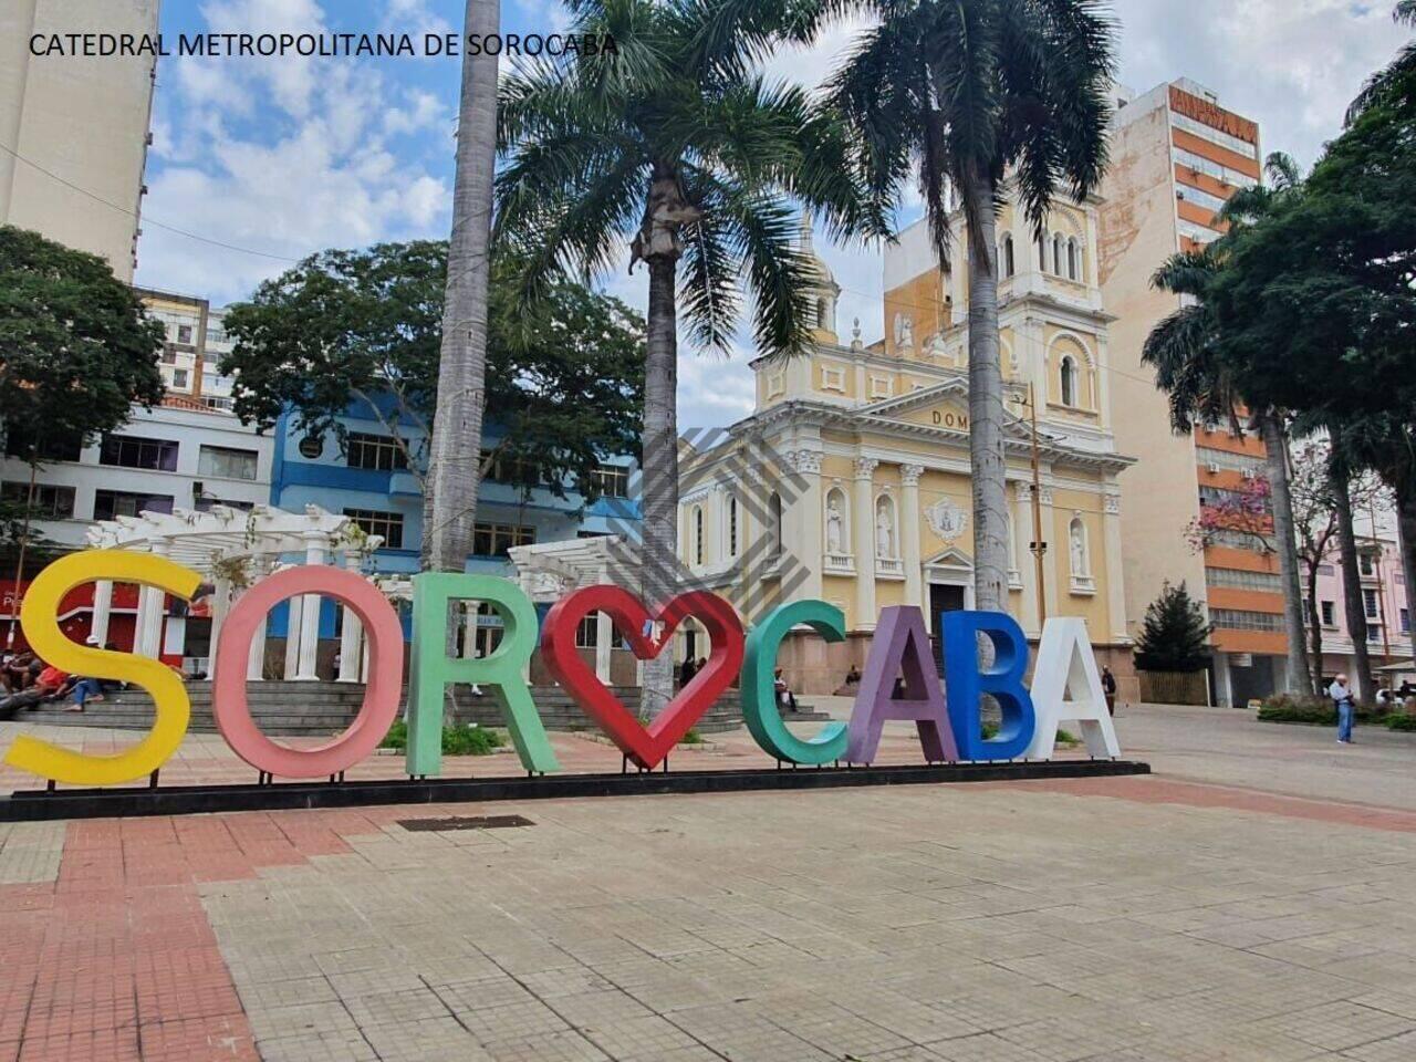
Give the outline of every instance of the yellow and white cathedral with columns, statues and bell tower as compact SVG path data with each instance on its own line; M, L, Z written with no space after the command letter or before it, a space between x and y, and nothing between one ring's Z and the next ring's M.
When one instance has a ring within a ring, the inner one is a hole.
M1032 640L1042 607L1083 617L1099 660L1124 683L1116 477L1131 462L1112 436L1096 205L1058 202L1041 241L1012 204L1000 217L1008 610ZM952 224L950 268L940 266L925 221L886 248L885 337L869 346L860 321L848 343L838 338L841 289L804 225L811 348L753 361L753 413L711 443L683 445L680 556L690 581L732 599L749 623L804 598L845 613L844 641L803 633L783 643L777 661L799 692L833 692L861 668L885 606L922 607L932 634L940 612L973 607L969 249L957 212ZM1035 515L1046 544L1041 585Z

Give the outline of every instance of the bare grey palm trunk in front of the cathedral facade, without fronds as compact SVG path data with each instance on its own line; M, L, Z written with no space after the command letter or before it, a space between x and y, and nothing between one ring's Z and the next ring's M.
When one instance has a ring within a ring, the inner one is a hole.
M974 607L1008 607L1007 457L1003 446L1003 367L998 364L998 263L993 180L964 194L978 228L969 232L969 457L974 494ZM1041 593L1042 589L1038 588Z

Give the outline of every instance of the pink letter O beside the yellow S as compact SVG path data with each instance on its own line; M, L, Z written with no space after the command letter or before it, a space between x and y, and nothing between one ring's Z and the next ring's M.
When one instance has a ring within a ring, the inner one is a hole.
M327 745L289 749L266 738L246 704L246 661L265 615L286 598L323 593L354 610L368 639L368 685L350 728ZM276 572L231 609L217 644L212 714L217 728L241 759L256 770L282 777L324 777L354 766L378 748L398 718L402 692L404 630L398 613L367 579L340 568L303 565Z

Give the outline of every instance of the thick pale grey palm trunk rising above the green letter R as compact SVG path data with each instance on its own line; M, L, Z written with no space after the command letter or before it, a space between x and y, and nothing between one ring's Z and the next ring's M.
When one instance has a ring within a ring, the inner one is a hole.
M498 0L467 0L466 33L496 35ZM428 480L432 484L429 564L460 572L476 523L481 418L487 375L487 282L491 245L491 178L497 149L497 57L462 61L457 159L453 178L447 299L443 307L438 411Z

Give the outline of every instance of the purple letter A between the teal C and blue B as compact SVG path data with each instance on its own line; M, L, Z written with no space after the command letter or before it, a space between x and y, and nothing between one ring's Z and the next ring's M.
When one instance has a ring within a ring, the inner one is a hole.
M895 680L901 675L903 685L896 698ZM925 746L925 759L930 763L959 759L939 673L930 660L925 617L915 606L896 605L881 610L861 691L851 711L845 749L848 762L874 762L886 719L913 719L919 728L919 743Z

